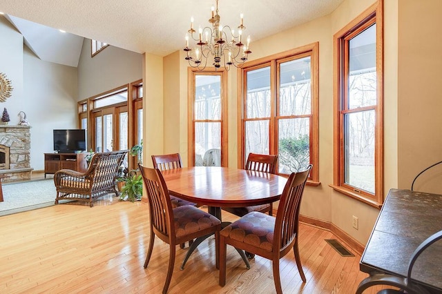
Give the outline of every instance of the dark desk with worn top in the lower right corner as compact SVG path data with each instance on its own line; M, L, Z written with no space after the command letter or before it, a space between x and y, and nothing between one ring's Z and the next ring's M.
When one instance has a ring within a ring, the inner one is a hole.
M442 230L442 195L390 190L361 258L360 269L370 276L386 273L407 277L414 250ZM442 293L442 242L417 259L412 279L431 292Z

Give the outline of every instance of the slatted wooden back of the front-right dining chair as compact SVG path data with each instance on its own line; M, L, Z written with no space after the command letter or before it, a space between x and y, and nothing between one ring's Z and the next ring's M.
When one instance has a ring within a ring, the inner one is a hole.
M280 248L280 250L286 248L298 235L300 203L310 170L311 164L307 170L291 173L287 179L276 214L273 242L278 243L273 244L274 248Z

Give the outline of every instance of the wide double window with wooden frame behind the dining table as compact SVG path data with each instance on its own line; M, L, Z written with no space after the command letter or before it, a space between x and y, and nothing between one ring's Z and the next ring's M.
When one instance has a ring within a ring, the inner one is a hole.
M313 164L318 184L318 43L242 68L240 164L249 153L278 154L278 173Z

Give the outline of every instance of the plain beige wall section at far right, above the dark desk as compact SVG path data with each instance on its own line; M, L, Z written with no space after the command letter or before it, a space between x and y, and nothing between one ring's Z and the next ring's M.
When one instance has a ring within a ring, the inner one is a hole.
M398 5L398 187L410 188L424 168L442 160L442 1ZM442 193L442 166L415 190Z

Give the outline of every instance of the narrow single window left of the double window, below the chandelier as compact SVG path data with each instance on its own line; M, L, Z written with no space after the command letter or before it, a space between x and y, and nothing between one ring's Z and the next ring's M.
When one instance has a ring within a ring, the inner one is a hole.
M227 166L227 72L189 69L189 166Z

